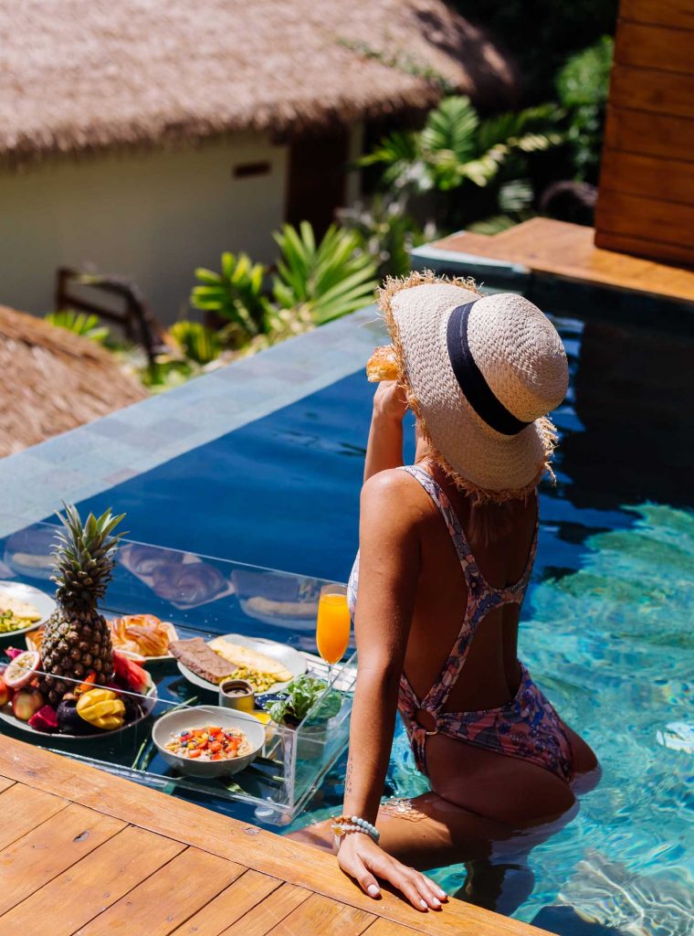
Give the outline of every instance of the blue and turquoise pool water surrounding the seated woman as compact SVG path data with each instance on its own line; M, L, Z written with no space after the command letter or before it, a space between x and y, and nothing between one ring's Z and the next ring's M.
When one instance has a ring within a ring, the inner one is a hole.
M684 329L556 321L571 394L557 413L557 487L542 489L520 651L604 775L531 853L535 888L515 915L575 936L684 936L694 913L692 341ZM83 506L126 511L141 541L344 579L371 393L354 374ZM423 788L401 730L388 784L399 796ZM340 795L338 768L319 814ZM465 875L435 876L456 889Z

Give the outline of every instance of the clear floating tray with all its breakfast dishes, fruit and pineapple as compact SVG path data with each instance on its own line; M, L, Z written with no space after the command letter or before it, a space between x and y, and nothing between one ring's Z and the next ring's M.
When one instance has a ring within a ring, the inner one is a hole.
M13 608L28 629L0 633L0 739L22 733L115 776L205 797L222 812L242 801L268 822L295 815L344 751L354 692L355 657L328 671L296 649L304 618L315 627L321 582L124 543L122 518L110 511L82 520L66 506L62 514L47 528L51 541L43 530L36 542L14 536L11 571L43 580L36 594L17 595L33 607ZM221 591L218 579L207 581L206 561L224 579ZM185 604L184 613L150 604L154 578L159 592L175 585L176 600L167 600ZM224 607L191 612L227 591L236 599ZM251 602L252 617L291 619L295 646L247 636L246 615L229 626L241 617L236 600L241 611ZM242 633L224 633L235 630Z

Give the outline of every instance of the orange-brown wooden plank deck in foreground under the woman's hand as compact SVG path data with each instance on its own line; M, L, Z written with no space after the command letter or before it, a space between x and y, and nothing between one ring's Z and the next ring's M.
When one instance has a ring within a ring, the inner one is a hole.
M0 922L22 936L531 936L371 900L331 856L0 735Z

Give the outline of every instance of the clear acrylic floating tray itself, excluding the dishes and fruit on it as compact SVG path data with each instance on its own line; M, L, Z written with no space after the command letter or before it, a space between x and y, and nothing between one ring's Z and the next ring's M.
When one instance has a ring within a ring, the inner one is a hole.
M190 604L179 608L173 600L168 603L160 601L152 607L148 603L148 593L152 592L149 587L143 588L148 586L144 580L147 577L134 575L130 571L127 546L123 552L126 561L116 570L108 590L108 605L102 609L107 616L153 613L173 622L181 638L201 636L210 640L229 632L256 638L269 636L270 639L294 647L306 661L310 675L326 682L329 680L324 694L316 699L311 711L295 729L268 722L265 746L248 768L234 776L212 779L182 775L166 763L152 742L153 724L172 709L219 704L217 691L192 685L181 675L176 660L171 658L162 658L156 665L147 664L156 687L156 701L152 706L152 700L149 700L149 715L133 724L128 731L96 734L89 739L70 739L60 734L33 733L28 736L16 725L3 722L0 723L0 732L23 740L30 739L51 751L66 754L109 773L176 796L191 798L217 812L239 814L239 810L251 808L253 818L257 821L286 825L303 809L347 748L356 680L356 654L348 651L345 662L330 670L312 652L315 648L314 633L307 622L297 618L295 629L286 622L273 629L270 622L259 622L245 615L240 599L241 595L254 593L264 594L268 602L283 605L295 601L306 605L313 600L324 582L204 557L206 562L214 563L220 569L229 587L211 598L209 603L195 608ZM180 563L180 560L177 563L193 566L198 564L194 560L199 558L190 557L186 563ZM32 581L27 575L16 574L17 580L36 584L36 580ZM45 582L40 584L46 588ZM238 595L231 593L235 591L234 586L239 589ZM223 600L218 601L220 598ZM215 601L217 604L212 603ZM23 646L22 637L17 638L16 644ZM331 706L330 711L334 714L329 718L321 715L327 693L335 693L339 697L331 700L333 703L339 701L339 705Z

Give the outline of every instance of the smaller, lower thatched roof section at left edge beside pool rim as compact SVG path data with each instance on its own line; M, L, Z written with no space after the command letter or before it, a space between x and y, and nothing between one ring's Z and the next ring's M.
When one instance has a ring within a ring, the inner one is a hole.
M0 456L146 396L94 342L0 306Z

